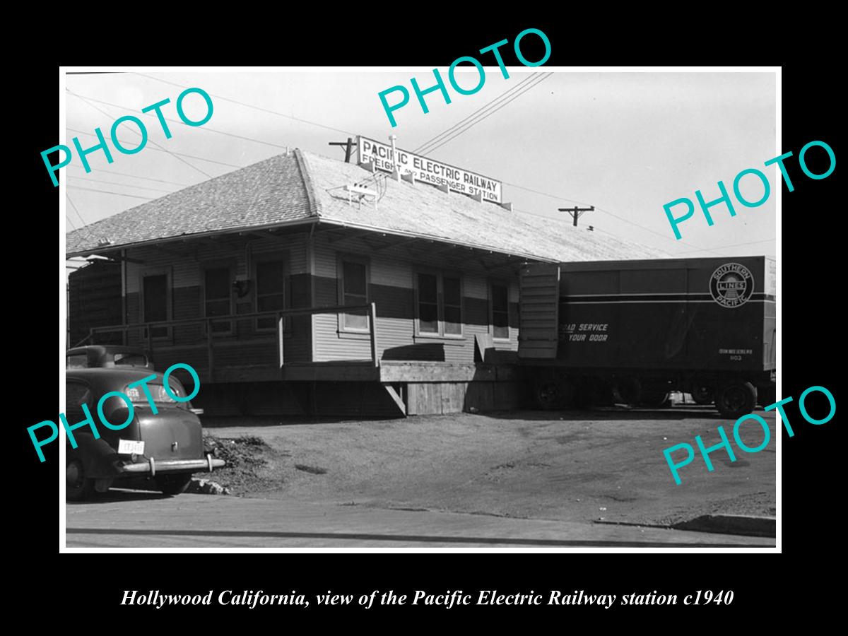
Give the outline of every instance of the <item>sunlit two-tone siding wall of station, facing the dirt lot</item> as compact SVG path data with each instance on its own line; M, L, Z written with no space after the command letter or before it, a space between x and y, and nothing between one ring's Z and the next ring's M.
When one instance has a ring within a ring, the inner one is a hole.
M434 244L434 248L444 245ZM444 360L474 362L475 335L488 334L489 281L507 282L510 299L510 338L499 349L518 348L518 276L507 271L492 274L474 259L447 262L441 254L404 256L403 248L375 252L361 240L330 243L316 235L313 247L315 304L338 304L339 254L365 257L369 262L370 300L377 303L377 353L386 360ZM443 271L462 276L462 338L415 335L414 276L417 270ZM335 314L315 315L315 361L366 360L370 357L367 335L339 331Z

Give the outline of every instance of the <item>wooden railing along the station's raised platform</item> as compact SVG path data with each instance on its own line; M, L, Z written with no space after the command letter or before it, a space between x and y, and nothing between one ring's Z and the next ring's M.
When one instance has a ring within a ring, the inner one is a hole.
M298 310L279 310L279 311L254 311L249 314L231 314L218 315L214 318L184 318L176 321L154 321L154 322L137 322L131 325L110 325L110 326L94 326L88 331L86 338L75 344L75 347L80 347L85 343L94 343L94 336L98 333L123 332L129 333L133 330L142 330L147 333L148 351L153 352L153 329L156 327L172 327L172 326L187 326L187 325L205 325L206 326L206 349L209 360L209 373L214 368L214 346L212 324L215 322L233 322L243 321L254 318L276 318L276 344L279 354L280 367L285 364L285 356L283 351L284 327L285 318L292 315L315 315L315 314L356 314L364 313L369 317L368 331L371 340L371 364L379 365L377 358L377 304L350 304L340 305L337 307L310 307L310 309Z

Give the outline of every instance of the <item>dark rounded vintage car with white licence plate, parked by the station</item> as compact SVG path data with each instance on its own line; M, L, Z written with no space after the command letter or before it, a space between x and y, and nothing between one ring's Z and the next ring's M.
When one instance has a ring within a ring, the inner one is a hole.
M144 386L128 387L145 377L153 405ZM171 393L186 396L186 389L173 376ZM103 425L98 401L109 392L124 393L132 404L132 415L124 399L113 396L103 402L103 416L113 426L130 423L120 430ZM204 449L203 427L190 402L176 402L165 391L164 375L137 367L68 369L65 379L65 418L69 427L86 419L86 404L97 427L72 430L77 448L66 442L65 498L86 499L95 490L105 492L113 485L153 488L165 494L180 494L191 482L193 472L212 471L224 460ZM153 407L157 412L153 412ZM67 437L67 436L66 436Z

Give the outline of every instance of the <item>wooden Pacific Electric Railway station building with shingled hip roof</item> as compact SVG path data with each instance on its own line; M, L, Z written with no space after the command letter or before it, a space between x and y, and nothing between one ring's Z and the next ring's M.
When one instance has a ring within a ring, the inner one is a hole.
M210 415L506 409L521 264L656 256L352 154L295 149L70 232L68 258L109 259L70 275L70 346L192 365Z

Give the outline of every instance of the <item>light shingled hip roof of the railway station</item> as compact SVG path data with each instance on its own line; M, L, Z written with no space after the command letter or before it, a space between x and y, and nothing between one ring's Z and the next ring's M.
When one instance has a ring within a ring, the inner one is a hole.
M555 261L644 259L661 251L564 220L478 203L424 183L378 173L373 199L350 205L344 186L371 175L355 164L295 150L198 183L66 235L67 255L166 239L320 220ZM108 247L98 242L108 239Z

